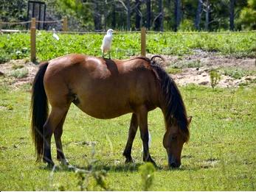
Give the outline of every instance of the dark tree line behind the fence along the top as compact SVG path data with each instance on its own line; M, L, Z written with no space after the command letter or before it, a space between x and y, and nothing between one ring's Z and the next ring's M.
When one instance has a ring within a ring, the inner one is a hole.
M26 21L28 0L1 0L1 21ZM80 31L256 29L256 0L45 0L46 19Z

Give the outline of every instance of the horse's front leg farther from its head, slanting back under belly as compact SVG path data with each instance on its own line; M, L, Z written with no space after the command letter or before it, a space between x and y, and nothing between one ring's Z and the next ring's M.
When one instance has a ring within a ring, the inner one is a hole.
M131 124L129 129L128 140L125 146L125 150L123 155L126 157L125 163L134 162L133 158L131 157L131 147L133 146L134 138L136 135L136 131L138 129L138 119L135 113L131 115Z

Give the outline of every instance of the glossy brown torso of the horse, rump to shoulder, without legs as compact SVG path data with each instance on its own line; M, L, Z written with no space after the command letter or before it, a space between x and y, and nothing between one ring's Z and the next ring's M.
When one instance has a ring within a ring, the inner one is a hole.
M50 104L74 102L96 118L131 113L142 104L154 108L158 102L156 77L145 60L69 54L49 61L44 85Z

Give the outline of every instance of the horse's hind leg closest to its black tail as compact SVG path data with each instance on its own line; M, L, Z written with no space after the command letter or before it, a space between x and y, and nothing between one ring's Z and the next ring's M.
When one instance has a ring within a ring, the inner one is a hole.
M51 154L51 138L53 132L55 132L56 127L60 124L63 116L65 115L66 110L60 107L52 107L52 111L47 118L46 123L44 124L44 157L43 160L45 163L48 163L48 166L53 166Z

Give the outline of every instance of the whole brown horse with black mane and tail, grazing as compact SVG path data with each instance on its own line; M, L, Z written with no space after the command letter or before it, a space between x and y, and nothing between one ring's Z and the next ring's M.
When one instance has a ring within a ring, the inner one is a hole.
M57 159L68 163L62 149L63 123L70 104L94 118L116 118L132 113L123 155L133 162L131 147L139 127L143 160L152 162L148 150L148 111L160 107L165 116L163 144L171 167L181 165L181 150L189 139L184 102L176 83L154 60L136 57L108 60L69 54L39 65L32 85L32 136L37 160L53 166L51 138L55 136ZM48 102L52 106L48 116Z

